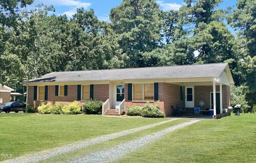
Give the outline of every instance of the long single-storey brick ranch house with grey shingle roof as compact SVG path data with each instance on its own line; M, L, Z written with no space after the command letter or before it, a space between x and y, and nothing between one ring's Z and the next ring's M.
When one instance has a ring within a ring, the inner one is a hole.
M146 102L158 105L166 116L172 116L171 106L199 107L214 115L230 106L230 84L234 84L227 63L121 68L114 70L52 72L25 82L27 104L43 102L85 102L98 99L104 102L102 114L116 108L143 106ZM115 112L114 111L114 112Z

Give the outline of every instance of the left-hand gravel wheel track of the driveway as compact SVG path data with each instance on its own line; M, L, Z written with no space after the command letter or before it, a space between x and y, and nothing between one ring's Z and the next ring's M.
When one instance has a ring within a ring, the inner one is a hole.
M44 159L49 159L54 156L62 155L63 153L68 153L68 152L71 152L71 151L74 151L74 150L77 150L80 148L88 147L89 145L105 142L105 141L108 141L111 139L118 138L120 136L124 136L124 135L138 132L141 130L146 130L148 128L155 127L155 126L158 126L158 125L161 125L164 123L168 123L171 121L175 121L175 120L177 120L177 119L172 118L168 121L163 121L163 122L159 122L159 123L155 123L155 124L151 124L151 125L147 125L147 126L143 126L143 127L138 127L138 128L132 128L130 130L124 130L124 131L109 134L109 135L103 135L98 138L84 140L84 141L73 143L73 144L63 145L62 147L57 147L57 148L53 148L53 149L49 149L49 150L45 150L45 151L41 151L41 152L32 153L29 155L6 160L4 162L37 162L37 161L41 161Z

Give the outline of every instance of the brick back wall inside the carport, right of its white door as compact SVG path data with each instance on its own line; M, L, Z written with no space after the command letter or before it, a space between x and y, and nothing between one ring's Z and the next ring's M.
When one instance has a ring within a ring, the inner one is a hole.
M216 92L220 91L220 86L216 85ZM204 101L205 108L211 108L210 92L213 92L212 85L195 86L195 107L199 107L199 101ZM222 106L227 108L230 106L230 87L222 85Z

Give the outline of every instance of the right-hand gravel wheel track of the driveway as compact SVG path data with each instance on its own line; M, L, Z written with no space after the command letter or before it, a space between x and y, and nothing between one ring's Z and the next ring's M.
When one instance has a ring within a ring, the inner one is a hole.
M142 136L141 138L128 141L125 143L121 143L119 145L115 145L114 147L103 149L95 153L90 153L82 158L76 158L74 160L68 162L111 162L116 161L117 159L122 158L126 153L132 152L138 148L141 148L150 142L160 138L161 136L177 130L179 128L194 124L200 120L193 120L190 122L185 122L182 124L178 124L172 127L169 127L163 131L159 131L147 136Z

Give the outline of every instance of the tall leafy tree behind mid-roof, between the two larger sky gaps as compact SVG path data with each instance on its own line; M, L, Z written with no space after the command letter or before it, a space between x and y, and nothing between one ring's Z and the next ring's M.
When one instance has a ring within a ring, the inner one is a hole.
M119 45L127 55L126 67L145 66L142 54L157 48L161 41L160 10L153 0L124 0L112 8L110 20Z

